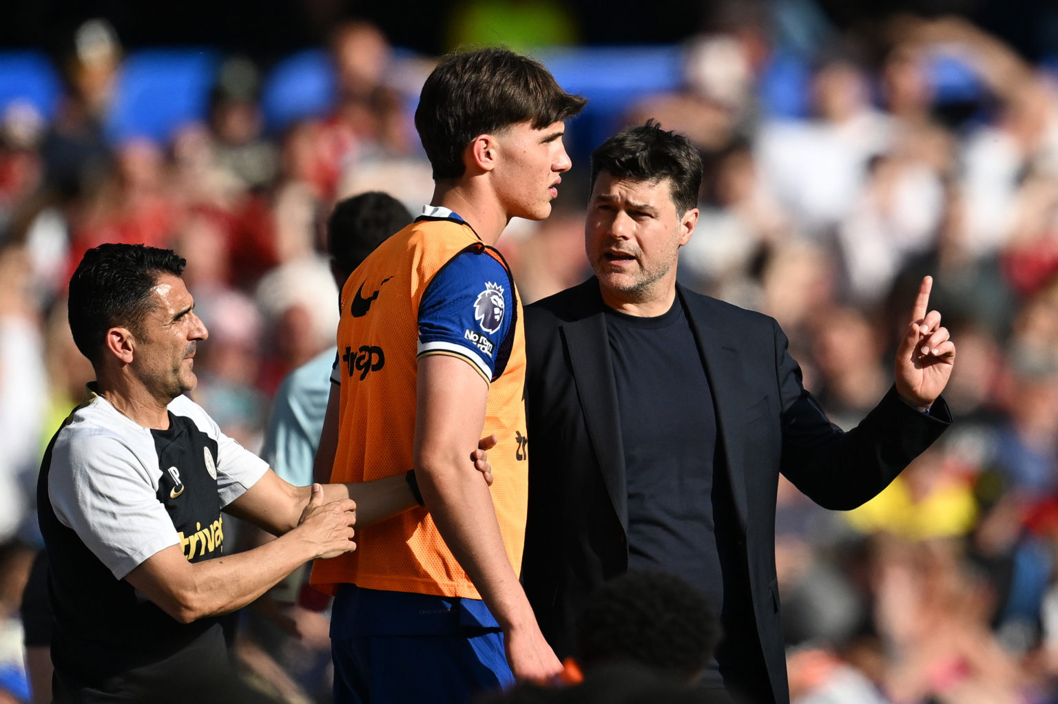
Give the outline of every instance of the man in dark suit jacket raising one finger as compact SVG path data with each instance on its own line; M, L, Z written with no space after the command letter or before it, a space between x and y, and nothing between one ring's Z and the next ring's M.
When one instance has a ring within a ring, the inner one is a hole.
M724 638L703 686L788 702L774 563L780 471L819 504L858 506L950 422L955 356L923 280L894 387L842 432L801 383L778 323L676 283L701 164L657 123L591 156L595 276L526 309L532 439L523 579L572 653L592 590L628 570L697 585Z

